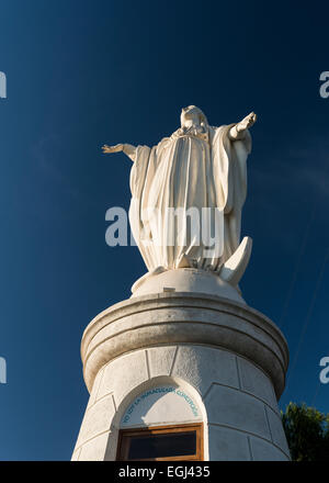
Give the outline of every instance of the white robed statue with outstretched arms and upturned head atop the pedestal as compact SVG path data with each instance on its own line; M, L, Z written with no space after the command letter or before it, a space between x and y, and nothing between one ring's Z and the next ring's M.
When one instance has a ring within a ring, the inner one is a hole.
M256 119L252 112L237 124L214 127L198 108L189 105L182 109L181 127L157 146L103 146L104 153L123 151L134 161L129 222L150 273L194 267L237 285L251 251L250 238L240 244L240 224L251 150L248 128ZM190 209L205 207L224 216L223 250L211 258L188 223ZM185 216L168 217L168 209L182 209Z

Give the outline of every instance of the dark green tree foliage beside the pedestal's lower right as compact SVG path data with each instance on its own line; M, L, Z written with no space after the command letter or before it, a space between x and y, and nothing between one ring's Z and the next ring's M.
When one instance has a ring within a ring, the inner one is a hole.
M329 414L290 403L281 417L293 461L329 461Z

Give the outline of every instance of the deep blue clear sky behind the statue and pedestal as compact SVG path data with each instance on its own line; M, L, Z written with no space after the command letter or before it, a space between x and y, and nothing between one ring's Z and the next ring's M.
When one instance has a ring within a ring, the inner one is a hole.
M105 211L128 207L131 161L100 147L154 145L189 104L213 125L259 116L241 288L288 340L281 407L329 412L318 378L329 356L325 5L0 1L1 460L70 459L88 402L82 332L145 273L137 248L105 244Z

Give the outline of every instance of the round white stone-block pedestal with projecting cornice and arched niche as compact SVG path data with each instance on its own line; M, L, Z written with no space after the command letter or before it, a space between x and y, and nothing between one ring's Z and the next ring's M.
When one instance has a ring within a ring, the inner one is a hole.
M90 400L72 460L115 460L124 430L196 425L200 459L290 460L277 400L286 341L264 315L163 292L99 314L82 337Z

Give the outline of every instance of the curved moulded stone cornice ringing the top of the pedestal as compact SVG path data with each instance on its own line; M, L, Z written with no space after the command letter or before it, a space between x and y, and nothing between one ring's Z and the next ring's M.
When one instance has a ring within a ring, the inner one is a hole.
M242 303L191 292L129 299L94 317L81 341L88 390L111 360L136 349L172 344L206 345L246 357L270 377L277 398L284 390L288 349L276 325Z

